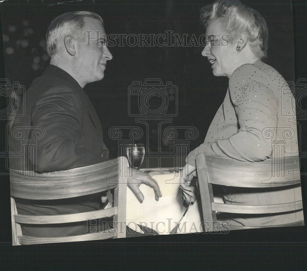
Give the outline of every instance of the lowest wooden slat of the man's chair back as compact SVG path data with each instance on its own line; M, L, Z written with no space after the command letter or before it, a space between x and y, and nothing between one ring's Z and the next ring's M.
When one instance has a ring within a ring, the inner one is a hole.
M116 236L115 230L108 230L102 232L95 232L82 235L73 235L65 237L34 237L34 236L18 236L18 241L21 245L35 245L46 243L63 243L63 242L80 242L91 240L102 240L107 238L113 238Z

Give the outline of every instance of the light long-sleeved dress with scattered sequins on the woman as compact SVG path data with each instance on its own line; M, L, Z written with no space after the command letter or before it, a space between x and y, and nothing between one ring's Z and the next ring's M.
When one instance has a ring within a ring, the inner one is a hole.
M278 128L277 128L278 127ZM274 151L282 144L282 153ZM272 151L273 149L273 151ZM298 155L295 101L285 79L258 60L237 68L229 79L225 99L208 129L204 143L189 153L186 162L195 166L198 153L256 162ZM238 176L239 178L239 176ZM242 180L244 182L244 180ZM279 189L223 187L227 204L266 205L300 200L301 188ZM278 195L278 196L277 196ZM302 210L281 215L234 215L231 225L265 226L303 219Z

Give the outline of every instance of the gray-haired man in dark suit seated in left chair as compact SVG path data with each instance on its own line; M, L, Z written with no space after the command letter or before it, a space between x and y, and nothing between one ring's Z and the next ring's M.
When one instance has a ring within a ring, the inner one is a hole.
M50 65L43 75L33 80L25 93L25 116L12 126L24 127L26 140L33 138L35 127L45 130L45 137L37 140L37 157L28 157L34 170L52 172L97 164L109 158L103 143L99 118L83 87L103 79L107 60L112 55L101 17L91 12L69 12L56 17L46 34ZM20 109L22 110L22 109ZM21 141L9 135L10 152L20 152ZM10 159L10 168L22 169L21 161ZM135 176L133 174L132 176ZM140 201L144 199L138 186L150 185L156 200L160 188L149 175L138 174L138 180L128 177L128 187ZM60 215L95 211L106 205L106 196L95 194L57 201L15 199L18 214ZM26 226L28 236L68 236L84 234L86 223L56 226Z

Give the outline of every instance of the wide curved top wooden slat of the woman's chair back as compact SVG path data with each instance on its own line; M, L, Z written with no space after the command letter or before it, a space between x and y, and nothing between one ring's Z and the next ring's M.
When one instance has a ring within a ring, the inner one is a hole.
M206 171L211 184L266 188L301 182L298 156L244 162L231 158L202 155L205 157Z

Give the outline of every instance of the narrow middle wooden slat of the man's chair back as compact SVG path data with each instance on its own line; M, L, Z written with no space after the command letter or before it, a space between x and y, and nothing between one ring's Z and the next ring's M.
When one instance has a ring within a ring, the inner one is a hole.
M113 216L117 213L117 207L104 210L84 212L71 215L15 215L15 222L24 224L56 224L86 221L88 219L99 219Z

